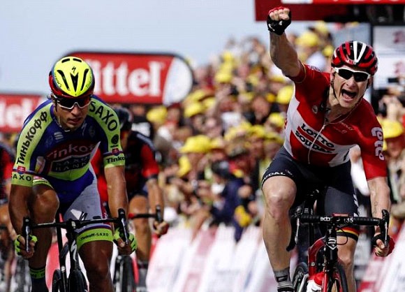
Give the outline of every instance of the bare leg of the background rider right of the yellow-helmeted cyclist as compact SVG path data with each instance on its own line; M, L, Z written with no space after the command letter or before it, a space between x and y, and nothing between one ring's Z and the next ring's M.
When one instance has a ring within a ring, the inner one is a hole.
M129 203L129 210L133 214L147 213L149 211L147 197L142 195L133 196ZM152 247L152 232L149 226L149 219L134 219L133 226L135 226L136 238L138 240L138 248L136 249L138 264L137 286L146 288L147 269Z

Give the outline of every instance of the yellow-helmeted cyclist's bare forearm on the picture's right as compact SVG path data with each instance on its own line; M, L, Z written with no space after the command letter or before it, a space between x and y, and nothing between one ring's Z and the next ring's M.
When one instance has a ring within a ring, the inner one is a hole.
M124 166L112 166L105 168L105 180L107 182L108 205L111 217L118 217L117 210L124 209L128 214L128 196L126 196L126 181Z

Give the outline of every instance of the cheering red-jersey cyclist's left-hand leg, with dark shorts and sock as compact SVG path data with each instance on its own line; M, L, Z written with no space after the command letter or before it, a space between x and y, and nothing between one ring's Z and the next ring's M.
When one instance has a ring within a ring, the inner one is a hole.
M291 237L288 210L293 205L297 193L297 185L293 180L295 174L297 168L290 157L279 152L263 175L262 189L266 203L263 240L279 283L279 291L293 291L290 280L290 253L286 251L286 247ZM286 289L281 290L282 287Z

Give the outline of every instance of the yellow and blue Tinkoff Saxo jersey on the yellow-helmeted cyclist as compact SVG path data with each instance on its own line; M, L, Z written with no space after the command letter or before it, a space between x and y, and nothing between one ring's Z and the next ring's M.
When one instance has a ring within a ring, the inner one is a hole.
M124 166L119 120L115 111L95 96L82 126L75 131L64 131L53 111L52 101L45 101L25 120L12 183L32 187L34 176L43 177L62 202L71 201L93 182L89 168L98 147L105 168Z

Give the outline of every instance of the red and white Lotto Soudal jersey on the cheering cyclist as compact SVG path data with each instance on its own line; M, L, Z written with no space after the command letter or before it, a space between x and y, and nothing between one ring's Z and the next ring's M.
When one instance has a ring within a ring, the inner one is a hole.
M359 145L367 180L386 176L383 131L371 105L362 98L348 114L325 121L330 74L304 65L295 78L295 93L287 112L284 147L294 159L314 166L338 166Z

